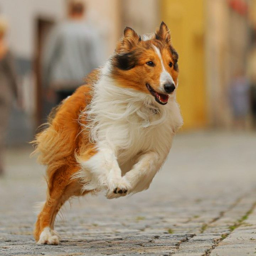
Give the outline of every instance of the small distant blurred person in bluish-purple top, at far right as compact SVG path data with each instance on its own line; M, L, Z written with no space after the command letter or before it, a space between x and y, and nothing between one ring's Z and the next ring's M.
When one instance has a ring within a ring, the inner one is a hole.
M236 72L230 86L230 102L234 117L234 128L246 127L246 117L249 114L249 81L244 71Z

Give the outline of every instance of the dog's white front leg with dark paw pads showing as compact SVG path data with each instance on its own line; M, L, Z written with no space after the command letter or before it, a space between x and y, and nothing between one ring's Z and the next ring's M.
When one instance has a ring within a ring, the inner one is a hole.
M104 187L107 189L106 197L109 199L126 196L130 185L122 178L115 151L111 147L98 146L95 155L86 161L82 161L80 157L79 162L91 176L91 182L86 185L87 189Z

